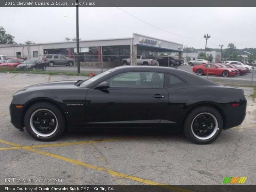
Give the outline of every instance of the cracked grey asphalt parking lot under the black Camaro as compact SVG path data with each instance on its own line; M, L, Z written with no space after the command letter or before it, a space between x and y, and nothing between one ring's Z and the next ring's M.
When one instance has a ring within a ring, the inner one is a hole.
M13 93L68 79L81 77L0 73L0 185L221 185L229 176L256 184L253 88L242 87L248 101L243 124L209 145L196 145L182 133L134 131L65 132L57 141L40 142L14 128L8 109ZM40 182L5 182L11 177Z

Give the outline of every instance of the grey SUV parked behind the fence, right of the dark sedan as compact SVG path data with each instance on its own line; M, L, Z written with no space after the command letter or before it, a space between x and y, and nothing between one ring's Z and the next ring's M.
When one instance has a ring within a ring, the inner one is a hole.
M53 67L54 65L67 65L73 66L74 59L65 57L64 55L49 54L43 56L43 61L48 61L48 66Z

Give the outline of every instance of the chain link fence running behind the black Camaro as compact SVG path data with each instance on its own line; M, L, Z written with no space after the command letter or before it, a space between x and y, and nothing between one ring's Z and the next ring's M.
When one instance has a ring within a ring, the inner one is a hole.
M157 57L153 56L138 56L137 60L130 59L129 55L86 55L86 54L80 54L75 55L54 55L54 54L46 54L46 55L37 55L37 56L9 56L9 58L12 58L10 60L6 60L6 62L2 62L2 66L0 67L0 71L20 71L19 67L16 67L16 65L26 65L26 68L23 68L24 71L41 71L40 73L49 73L49 74L69 74L69 75L76 75L77 74L77 61L78 57L80 60L80 75L89 76L90 73L94 74L100 74L103 71L106 71L110 68L118 67L118 66L124 66L124 65L159 65L159 66L165 66L165 67L172 67L172 66L178 66L179 69L185 70L187 72L193 73L193 66L199 65L202 63L214 63L214 64L225 64L228 61L231 61L230 64L239 64L239 67L251 67L251 71L243 76L235 76L235 77L229 77L223 78L220 76L210 76L209 80L214 81L233 81L233 82L239 82L242 84L247 85L256 85L256 80L254 78L254 60L246 60L245 62L241 59L230 59L230 58L197 58L197 59L188 59L188 57L183 57L182 59L179 59L179 56L169 56L169 59L167 55L159 55ZM165 58L165 60L164 60ZM16 62L16 64L12 64L12 62ZM198 60L205 60L205 61L198 61ZM22 61L22 62L18 62ZM32 67L29 67L31 65L30 62L34 61L34 64L32 64ZM151 62L153 61L153 62ZM244 62L244 65L242 63ZM237 63L234 63L237 62ZM192 63L192 64L191 64ZM42 67L45 65L45 69ZM189 67L188 67L189 66ZM207 77L208 78L208 77Z

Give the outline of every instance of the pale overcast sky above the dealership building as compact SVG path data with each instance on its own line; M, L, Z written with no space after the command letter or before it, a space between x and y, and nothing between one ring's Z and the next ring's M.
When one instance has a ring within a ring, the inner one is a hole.
M76 36L75 7L0 8L0 26L24 43L62 42ZM256 48L255 7L80 7L81 40L132 37L132 33L204 48ZM176 35L174 35L176 34ZM221 41L220 41L221 40Z

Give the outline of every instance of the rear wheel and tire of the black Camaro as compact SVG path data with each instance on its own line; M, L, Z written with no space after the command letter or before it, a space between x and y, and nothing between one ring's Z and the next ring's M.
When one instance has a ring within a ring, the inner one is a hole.
M215 108L202 106L188 114L183 131L194 143L209 144L220 136L222 128L223 121L220 113Z

